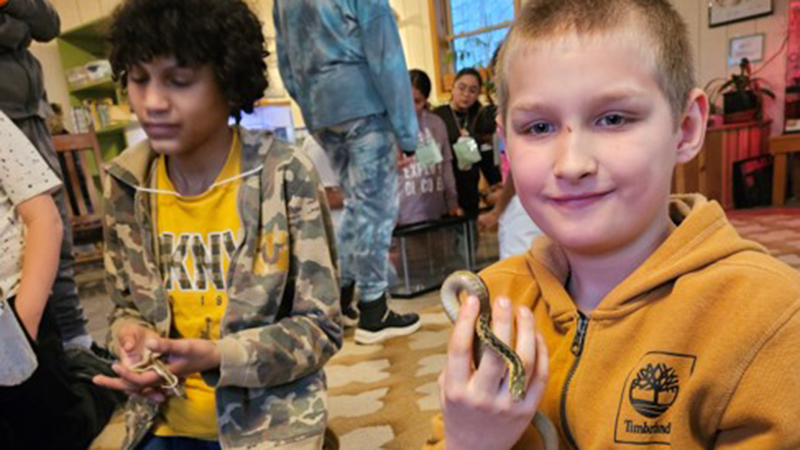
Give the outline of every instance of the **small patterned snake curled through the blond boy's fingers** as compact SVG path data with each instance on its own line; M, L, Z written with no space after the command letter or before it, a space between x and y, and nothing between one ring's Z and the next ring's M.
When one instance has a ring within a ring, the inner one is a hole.
M478 339L472 347L474 361L480 360L483 348L488 347L496 352L508 368L508 391L511 399L515 402L522 400L525 397L526 389L525 367L522 365L519 355L500 340L491 329L492 304L489 288L483 282L483 279L468 270L455 271L442 283L440 294L445 314L453 323L458 318L458 312L461 309L462 294L478 297L480 313L475 327L475 334ZM558 450L558 431L550 419L537 411L533 417L532 424L539 431L545 450Z

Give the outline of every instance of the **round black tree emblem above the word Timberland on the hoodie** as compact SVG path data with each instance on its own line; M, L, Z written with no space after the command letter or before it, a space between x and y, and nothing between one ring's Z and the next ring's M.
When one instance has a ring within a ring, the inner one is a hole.
M680 378L675 369L664 363L648 364L636 374L628 397L636 412L656 419L675 403L680 391Z

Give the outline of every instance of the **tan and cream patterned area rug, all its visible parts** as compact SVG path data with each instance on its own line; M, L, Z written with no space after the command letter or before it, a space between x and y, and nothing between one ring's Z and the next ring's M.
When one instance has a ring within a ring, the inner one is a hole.
M744 237L800 269L800 209L735 211L729 216ZM439 410L436 380L451 325L435 306L435 293L396 304L404 310L421 308L420 331L383 345L359 346L349 330L342 351L326 367L330 426L343 450L414 450L431 434L430 420ZM122 431L117 418L92 449L119 448Z

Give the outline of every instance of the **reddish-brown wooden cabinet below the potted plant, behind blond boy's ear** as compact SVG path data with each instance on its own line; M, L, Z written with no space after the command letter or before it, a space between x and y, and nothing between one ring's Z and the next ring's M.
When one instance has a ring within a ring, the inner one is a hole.
M679 164L673 176L673 192L699 192L733 208L733 163L768 153L771 120L711 127L700 153Z

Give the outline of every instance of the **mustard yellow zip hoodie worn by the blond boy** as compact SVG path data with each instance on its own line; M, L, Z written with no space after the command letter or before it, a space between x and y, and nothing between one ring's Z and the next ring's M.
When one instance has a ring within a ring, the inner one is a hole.
M677 229L588 315L547 238L481 274L534 311L550 354L539 411L561 449L800 449L800 275L716 202L670 207ZM439 421L427 448L442 437Z

